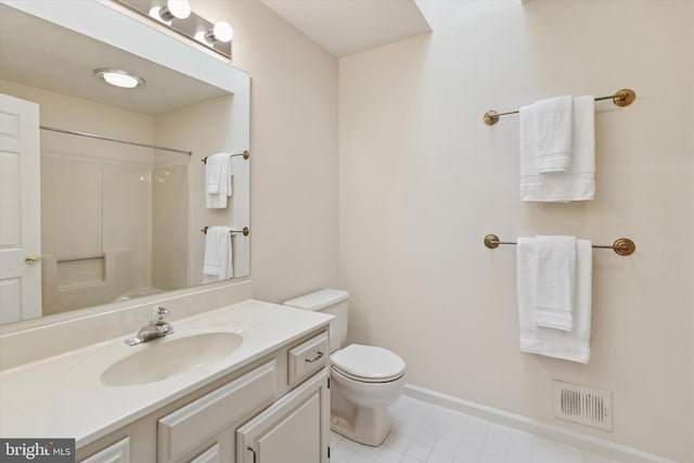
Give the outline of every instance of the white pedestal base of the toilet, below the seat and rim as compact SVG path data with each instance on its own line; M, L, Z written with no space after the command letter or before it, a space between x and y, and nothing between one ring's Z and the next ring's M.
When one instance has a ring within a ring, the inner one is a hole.
M390 413L386 407L356 407L331 387L330 428L356 442L378 447L390 434Z

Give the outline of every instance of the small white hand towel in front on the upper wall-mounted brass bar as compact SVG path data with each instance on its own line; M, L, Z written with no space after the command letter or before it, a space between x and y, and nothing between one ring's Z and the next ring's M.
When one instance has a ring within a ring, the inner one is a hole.
M540 100L534 106L538 172L566 172L571 159L574 98Z

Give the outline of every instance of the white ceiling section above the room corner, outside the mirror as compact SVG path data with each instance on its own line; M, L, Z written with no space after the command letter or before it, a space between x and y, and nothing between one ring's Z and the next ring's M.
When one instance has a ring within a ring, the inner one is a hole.
M260 0L342 57L432 31L414 0Z

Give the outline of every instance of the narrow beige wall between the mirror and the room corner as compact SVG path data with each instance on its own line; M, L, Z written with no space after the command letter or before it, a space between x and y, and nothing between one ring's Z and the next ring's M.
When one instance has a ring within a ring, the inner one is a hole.
M337 60L257 0L192 0L250 75L250 274L281 303L338 273Z

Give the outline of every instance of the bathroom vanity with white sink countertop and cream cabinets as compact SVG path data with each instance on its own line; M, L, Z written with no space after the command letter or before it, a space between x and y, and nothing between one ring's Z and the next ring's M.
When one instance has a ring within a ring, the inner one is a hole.
M75 438L89 463L325 463L329 321L250 299L5 369L2 437Z

